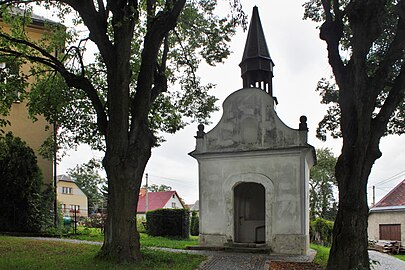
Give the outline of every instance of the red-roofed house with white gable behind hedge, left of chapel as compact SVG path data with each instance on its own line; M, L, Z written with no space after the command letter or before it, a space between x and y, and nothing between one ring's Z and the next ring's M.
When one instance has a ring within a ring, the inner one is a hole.
M175 190L161 192L146 192L141 188L138 199L138 218L145 218L146 212L162 208L185 208Z

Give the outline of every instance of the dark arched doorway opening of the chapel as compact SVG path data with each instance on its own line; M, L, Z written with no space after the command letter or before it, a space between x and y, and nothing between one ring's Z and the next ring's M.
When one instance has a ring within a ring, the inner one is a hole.
M241 183L234 188L235 242L265 242L265 189L257 183Z

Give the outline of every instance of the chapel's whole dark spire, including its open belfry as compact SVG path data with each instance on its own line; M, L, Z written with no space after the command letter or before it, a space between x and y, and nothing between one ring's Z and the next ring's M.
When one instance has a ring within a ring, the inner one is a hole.
M256 6L253 8L245 50L239 66L242 71L244 88L257 87L273 96L274 63L270 58Z

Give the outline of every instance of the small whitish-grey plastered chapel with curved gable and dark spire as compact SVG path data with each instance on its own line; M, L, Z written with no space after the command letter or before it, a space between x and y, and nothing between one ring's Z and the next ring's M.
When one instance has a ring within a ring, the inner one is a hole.
M297 129L278 117L273 67L257 7L240 63L243 88L223 103L219 123L198 126L202 247L246 246L282 254L309 250L309 170L315 149L306 117Z

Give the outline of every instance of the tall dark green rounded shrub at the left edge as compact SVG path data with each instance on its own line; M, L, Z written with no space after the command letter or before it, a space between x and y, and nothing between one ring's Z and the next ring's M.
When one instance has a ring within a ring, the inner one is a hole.
M46 229L52 222L52 191L41 192L34 151L11 133L0 139L0 179L0 231Z

